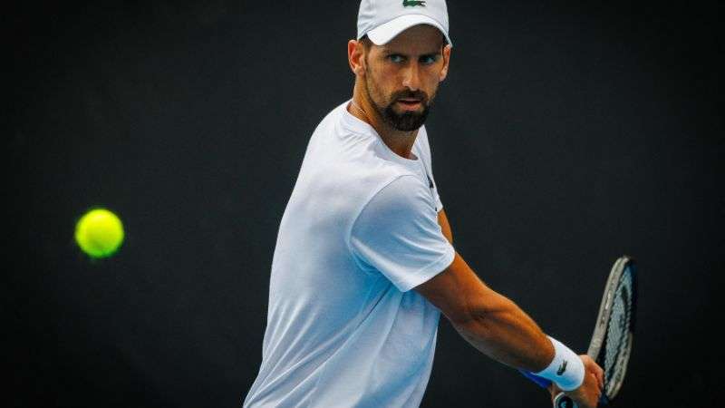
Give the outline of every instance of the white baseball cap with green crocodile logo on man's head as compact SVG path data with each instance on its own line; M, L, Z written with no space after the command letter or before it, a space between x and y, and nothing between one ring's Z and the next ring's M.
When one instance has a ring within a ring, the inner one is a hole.
M368 34L372 44L387 44L416 24L438 28L453 46L448 35L445 0L362 0L357 15L357 39Z

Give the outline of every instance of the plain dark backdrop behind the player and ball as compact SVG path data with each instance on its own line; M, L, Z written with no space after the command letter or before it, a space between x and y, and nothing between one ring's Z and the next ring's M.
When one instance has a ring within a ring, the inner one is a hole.
M579 351L612 262L637 257L639 325L617 406L714 406L720 6L635 3L449 2L449 77L426 123L433 168L459 253ZM6 10L7 404L241 404L306 142L352 94L357 7ZM125 223L115 257L75 247L92 206ZM422 406L546 398L441 318Z

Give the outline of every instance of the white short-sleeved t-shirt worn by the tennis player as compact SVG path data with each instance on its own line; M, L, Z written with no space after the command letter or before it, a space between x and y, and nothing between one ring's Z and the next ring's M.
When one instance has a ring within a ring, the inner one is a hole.
M455 255L428 135L404 159L349 102L315 129L282 217L245 407L417 407L428 384L440 311L411 288Z

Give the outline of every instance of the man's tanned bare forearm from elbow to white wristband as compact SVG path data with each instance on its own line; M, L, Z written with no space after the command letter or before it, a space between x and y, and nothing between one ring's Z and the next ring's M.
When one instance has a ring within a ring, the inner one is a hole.
M503 364L536 373L554 358L554 346L534 320L493 290L485 305L476 306L469 316L453 326L471 345Z

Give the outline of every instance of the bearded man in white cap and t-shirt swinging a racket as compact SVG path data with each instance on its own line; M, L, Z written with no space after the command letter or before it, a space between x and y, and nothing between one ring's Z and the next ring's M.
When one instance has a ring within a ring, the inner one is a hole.
M277 235L245 407L415 407L442 312L503 364L593 407L602 369L547 337L452 247L422 126L449 69L443 0L362 0L353 98L314 130Z

